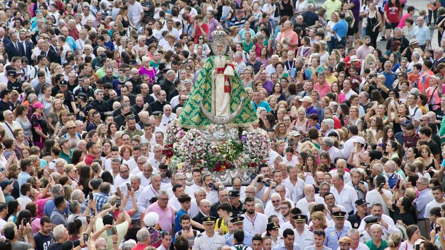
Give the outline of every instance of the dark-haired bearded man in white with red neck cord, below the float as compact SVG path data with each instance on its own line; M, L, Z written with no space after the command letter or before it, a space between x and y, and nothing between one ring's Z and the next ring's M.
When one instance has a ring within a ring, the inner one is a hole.
M266 230L268 218L264 214L255 211L255 200L252 197L246 197L244 200L246 213L244 216L244 230L252 234L261 234Z

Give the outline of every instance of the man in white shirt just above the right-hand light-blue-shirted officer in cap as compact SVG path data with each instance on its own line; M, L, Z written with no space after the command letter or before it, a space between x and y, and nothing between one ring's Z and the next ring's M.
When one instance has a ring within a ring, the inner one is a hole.
M345 207L349 215L357 211L355 208L355 201L358 199L357 192L353 187L344 184L343 176L335 174L332 177L332 184L331 193L334 194L335 204Z

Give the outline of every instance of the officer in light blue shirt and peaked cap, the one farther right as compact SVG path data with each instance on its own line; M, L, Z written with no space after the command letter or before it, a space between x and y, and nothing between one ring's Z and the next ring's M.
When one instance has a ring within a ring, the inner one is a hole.
M344 225L344 218L346 216L346 212L336 211L332 213L332 219L334 220L335 225L327 227L325 229L326 238L325 245L331 249L338 248L338 241L341 237L347 236L349 231L349 227Z

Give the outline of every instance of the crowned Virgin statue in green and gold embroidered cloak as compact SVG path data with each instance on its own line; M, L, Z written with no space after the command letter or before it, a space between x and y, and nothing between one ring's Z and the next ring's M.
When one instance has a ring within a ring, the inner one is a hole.
M205 61L181 111L178 125L185 128L211 128L209 117L227 119L232 127L247 126L257 120L243 83L226 55L226 32L211 33L212 53Z

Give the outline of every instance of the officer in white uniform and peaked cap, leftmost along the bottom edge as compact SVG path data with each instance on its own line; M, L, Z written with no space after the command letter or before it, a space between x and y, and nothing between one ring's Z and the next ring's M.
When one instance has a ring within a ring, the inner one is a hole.
M215 217L204 217L202 224L205 227L205 231L195 238L192 250L220 250L224 246L226 239L222 234L215 231Z

